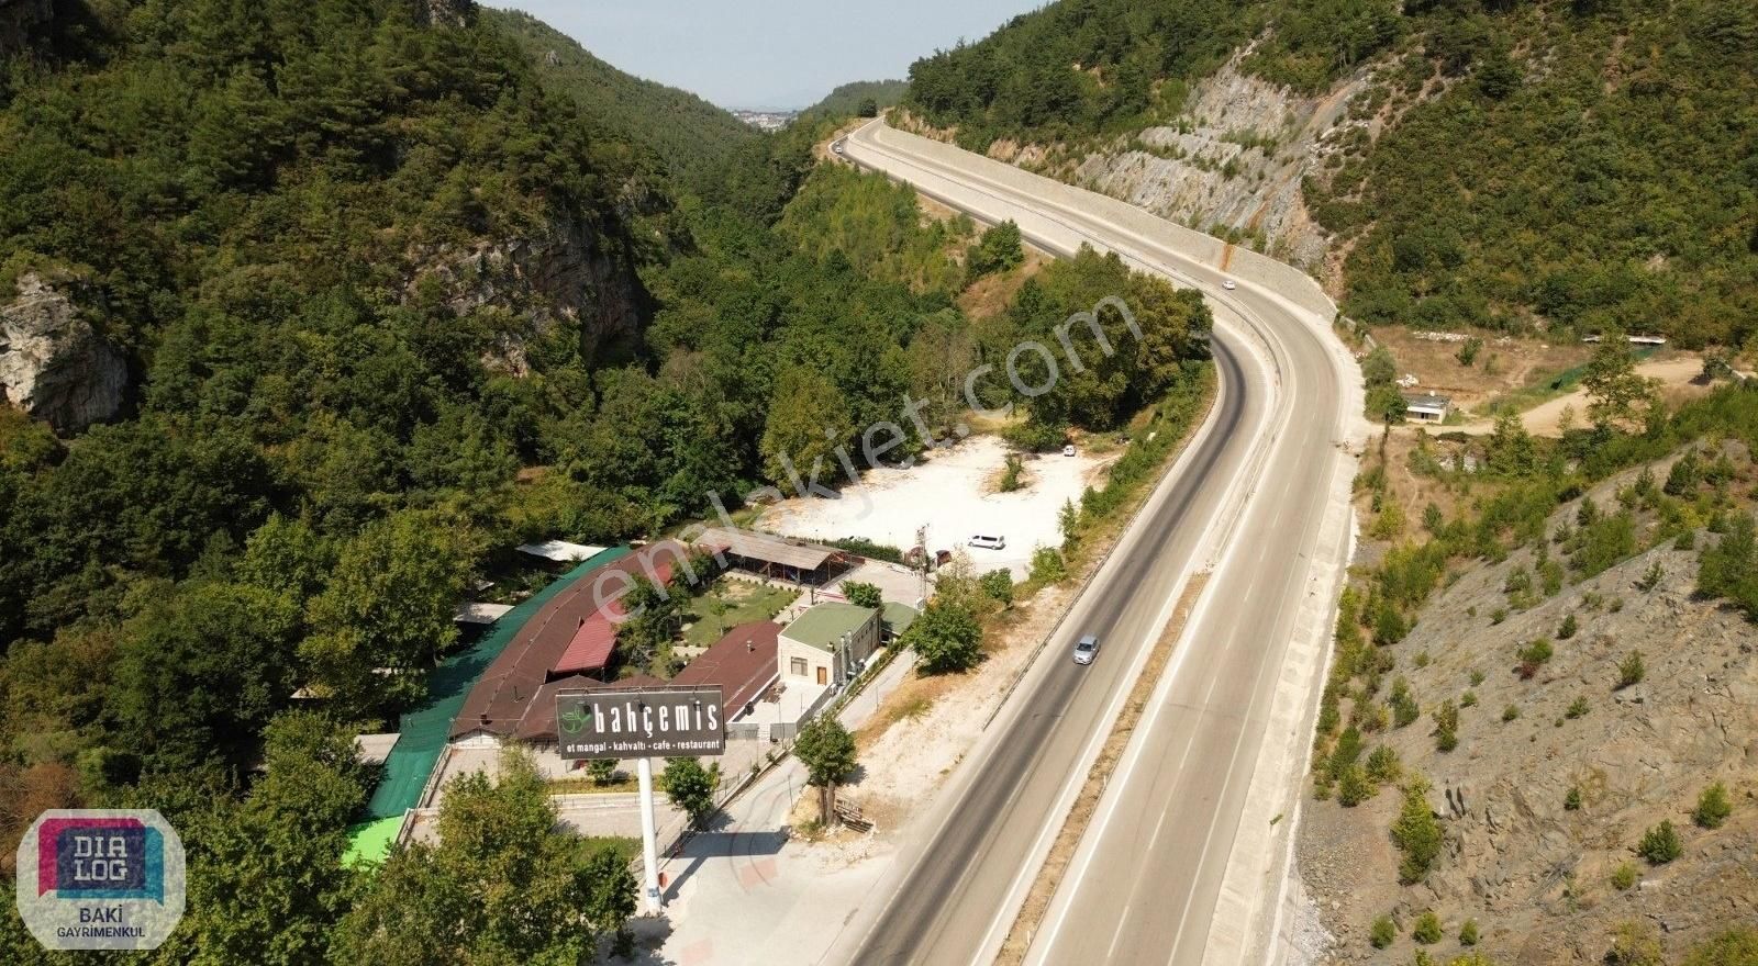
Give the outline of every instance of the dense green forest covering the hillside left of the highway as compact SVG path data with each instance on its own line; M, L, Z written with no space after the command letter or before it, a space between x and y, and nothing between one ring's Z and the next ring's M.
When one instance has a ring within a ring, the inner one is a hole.
M440 845L341 862L374 782L353 736L422 699L473 580L786 485L782 455L905 393L944 430L970 365L1106 295L1143 337L1101 313L1118 351L1021 443L1202 376L1201 300L1115 258L967 318L1018 230L814 163L833 119L758 135L469 4L58 7L0 72L0 281L54 279L130 385L83 432L0 406L0 854L44 808L163 811L190 912L139 961L592 955L626 857L548 834L517 762L447 797ZM506 869L582 915L483 901ZM9 913L0 961L83 959Z

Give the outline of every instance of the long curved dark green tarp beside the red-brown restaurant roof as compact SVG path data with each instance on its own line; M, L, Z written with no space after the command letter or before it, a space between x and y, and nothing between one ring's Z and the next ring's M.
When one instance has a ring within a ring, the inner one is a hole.
M427 776L432 775L434 762L440 761L440 752L445 750L447 736L452 732L452 718L464 706L464 697L489 669L489 664L513 641L519 629L531 620L531 615L573 581L628 553L628 546L614 546L582 562L557 578L556 583L506 611L469 650L445 659L434 669L427 681L427 704L403 715L397 743L385 759L385 771L378 780L378 789L373 790L373 801L366 804L373 818L401 818L406 810L418 804Z

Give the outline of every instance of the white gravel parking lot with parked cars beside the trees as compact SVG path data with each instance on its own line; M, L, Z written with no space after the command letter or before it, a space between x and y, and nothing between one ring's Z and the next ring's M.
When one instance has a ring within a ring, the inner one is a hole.
M916 527L928 527L928 550L965 548L977 571L1007 567L1025 578L1032 550L1062 543L1057 511L1102 478L1106 462L1085 451L1025 460L1025 488L997 492L1006 446L977 436L911 469L874 469L840 499L789 499L763 513L758 527L802 539L867 537L907 550ZM976 534L999 536L1006 550L969 546Z

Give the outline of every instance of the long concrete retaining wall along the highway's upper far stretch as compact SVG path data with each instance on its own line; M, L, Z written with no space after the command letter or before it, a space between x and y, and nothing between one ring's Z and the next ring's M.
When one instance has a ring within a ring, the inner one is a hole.
M1164 244L1185 258L1224 270L1241 281L1269 288L1301 309L1322 318L1326 323L1336 316L1336 304L1324 293L1324 288L1318 286L1317 279L1294 265L1276 262L1268 255L1260 255L1236 244L1227 244L1213 235L1166 221L1164 218L1148 214L1129 202L1122 202L1097 191L1088 191L1085 188L1074 188L1072 184L1064 184L1062 181L1032 174L941 141L884 125L874 128L874 139L881 146L895 151L932 158L944 165L979 174L981 177L1020 191L1028 191L1030 195L1057 205L1102 213L1108 221L1144 239Z

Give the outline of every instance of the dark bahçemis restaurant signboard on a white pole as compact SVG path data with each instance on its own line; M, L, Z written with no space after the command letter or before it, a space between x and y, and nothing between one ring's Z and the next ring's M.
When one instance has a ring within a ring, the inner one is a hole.
M563 759L719 755L721 711L719 687L559 694L556 734Z

